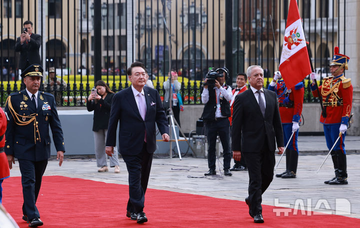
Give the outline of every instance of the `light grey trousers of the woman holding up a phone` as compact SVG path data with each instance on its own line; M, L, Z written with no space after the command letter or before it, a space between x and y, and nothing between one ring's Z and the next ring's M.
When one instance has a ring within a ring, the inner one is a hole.
M107 129L99 129L98 131L92 132L94 134L96 165L97 167L107 166L107 154L105 153ZM113 148L114 153L109 158L110 167L119 165L117 148L116 146Z

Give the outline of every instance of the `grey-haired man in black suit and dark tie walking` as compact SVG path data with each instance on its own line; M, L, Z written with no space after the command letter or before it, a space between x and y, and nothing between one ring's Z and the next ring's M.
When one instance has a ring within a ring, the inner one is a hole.
M249 214L255 223L262 223L261 194L272 181L276 144L283 152L283 135L276 94L262 88L263 69L251 65L246 74L250 87L233 103L231 146L233 158L243 156L247 164Z

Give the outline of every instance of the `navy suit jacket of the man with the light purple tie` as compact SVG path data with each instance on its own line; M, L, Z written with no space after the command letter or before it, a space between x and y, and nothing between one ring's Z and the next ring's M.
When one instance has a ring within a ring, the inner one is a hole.
M146 100L145 120L137 108L131 86L115 93L112 99L110 120L107 128L106 146L115 146L116 127L119 123L119 150L121 154L135 155L141 152L146 129L146 150L156 149L156 128L168 133L168 122L156 89L143 87Z

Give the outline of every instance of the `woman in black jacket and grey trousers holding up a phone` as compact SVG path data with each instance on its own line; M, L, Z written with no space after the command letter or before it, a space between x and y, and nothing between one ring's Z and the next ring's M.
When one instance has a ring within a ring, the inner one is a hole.
M96 81L94 87L87 98L86 107L88 111L94 111L92 131L95 143L96 165L99 167L97 171L107 172L105 142L114 92L111 91L103 80ZM110 156L110 167L115 167L115 173L120 172L116 146L114 147L114 155Z

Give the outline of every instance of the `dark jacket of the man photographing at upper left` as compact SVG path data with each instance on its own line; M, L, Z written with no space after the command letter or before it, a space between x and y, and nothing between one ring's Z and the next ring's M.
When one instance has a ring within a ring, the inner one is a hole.
M15 51L20 51L19 69L24 70L25 67L31 64L41 64L39 48L41 45L41 35L31 33L30 41L20 43L20 37L17 37L15 43ZM28 65L27 65L28 61Z

